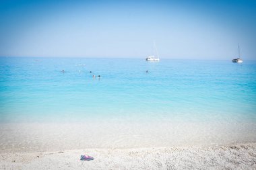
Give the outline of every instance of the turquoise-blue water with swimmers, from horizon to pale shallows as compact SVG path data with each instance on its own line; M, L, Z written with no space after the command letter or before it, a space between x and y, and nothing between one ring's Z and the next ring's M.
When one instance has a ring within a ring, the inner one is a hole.
M256 62L0 58L1 122L102 119L256 122Z

